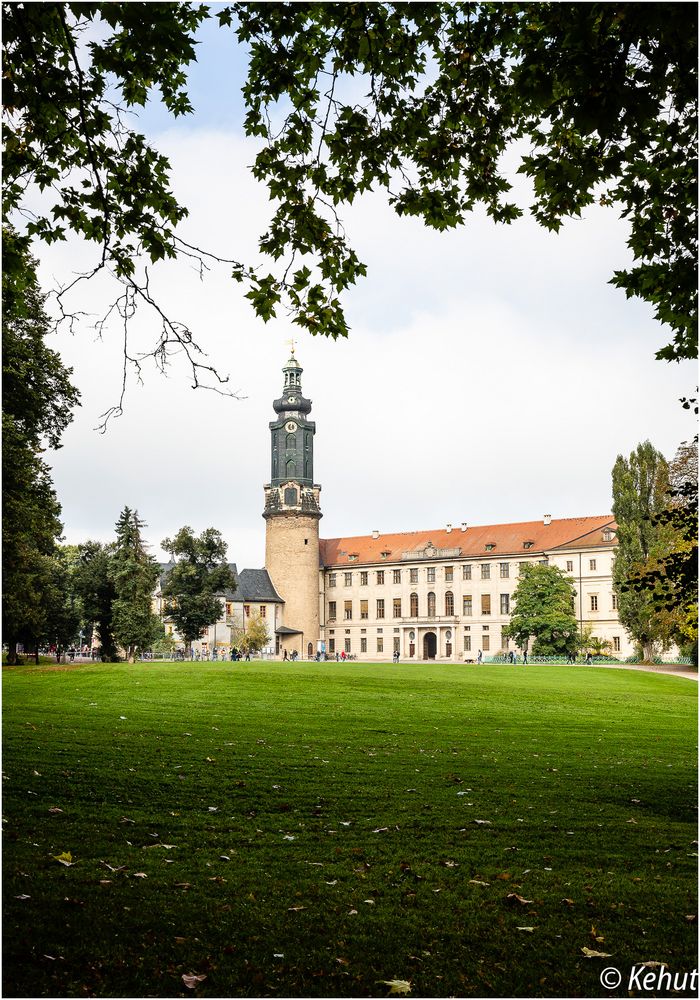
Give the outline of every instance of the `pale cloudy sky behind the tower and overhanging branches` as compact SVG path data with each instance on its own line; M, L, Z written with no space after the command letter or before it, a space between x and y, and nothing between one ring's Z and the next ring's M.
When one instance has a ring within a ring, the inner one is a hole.
M155 108L143 127L190 209L183 235L247 260L269 207L248 170L255 147L243 138L231 52L207 28L195 115L175 125ZM558 235L479 213L437 234L397 218L381 195L344 219L369 269L344 297L344 342L284 319L263 324L225 268L203 282L184 263L153 270L159 299L240 399L193 391L173 359L168 378L147 367L143 386L130 383L123 416L100 434L100 414L119 396L120 331L96 341L86 322L53 338L82 392L63 448L47 456L68 542L110 540L129 505L159 557L182 525L212 526L239 569L262 566L268 423L291 336L313 401L322 537L607 513L619 453L649 438L670 458L694 433L678 403L694 367L655 361L669 331L607 283L630 262L615 210L592 209ZM75 244L37 251L45 287L91 259ZM94 282L75 301L98 314L112 292ZM137 324L144 350L151 323Z

